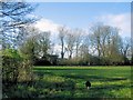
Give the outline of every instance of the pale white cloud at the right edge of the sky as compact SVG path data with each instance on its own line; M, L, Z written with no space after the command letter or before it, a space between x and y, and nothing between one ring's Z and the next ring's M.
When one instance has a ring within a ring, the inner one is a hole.
M120 34L122 37L131 36L131 14L105 14L98 18L98 20L102 21L105 24L116 27L120 29Z

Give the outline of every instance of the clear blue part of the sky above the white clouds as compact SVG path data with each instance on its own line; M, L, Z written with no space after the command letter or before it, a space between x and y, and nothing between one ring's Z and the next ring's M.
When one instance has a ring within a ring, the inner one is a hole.
M130 3L127 2L41 2L39 3L35 13L61 24L84 27L94 21L95 17L108 13L121 14L130 12Z

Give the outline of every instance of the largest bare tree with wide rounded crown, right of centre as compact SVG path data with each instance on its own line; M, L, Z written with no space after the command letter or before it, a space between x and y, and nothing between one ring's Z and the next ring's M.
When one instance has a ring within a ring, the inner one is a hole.
M98 57L106 58L116 62L120 61L120 36L119 29L104 24L96 24L92 27L92 33L90 34L90 41L92 47L95 48Z

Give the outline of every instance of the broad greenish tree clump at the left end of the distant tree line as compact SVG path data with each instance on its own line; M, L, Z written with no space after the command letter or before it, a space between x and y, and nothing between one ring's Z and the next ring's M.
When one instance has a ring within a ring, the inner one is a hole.
M50 50L50 32L41 32L33 27L28 27L24 30L27 37L20 46L20 50L23 54L34 62L35 59L45 58Z

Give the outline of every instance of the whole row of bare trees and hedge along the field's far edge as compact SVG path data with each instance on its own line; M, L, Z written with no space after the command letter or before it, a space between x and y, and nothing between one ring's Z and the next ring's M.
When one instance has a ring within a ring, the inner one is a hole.
M32 26L25 28L24 32L29 37L20 50L29 53L34 64L41 61L41 66L132 64L131 39L122 38L117 28L96 23L88 33L64 26L58 31L58 38L53 42L50 39L51 32L41 32ZM55 43L60 47L57 49L60 51L58 54L53 50Z

